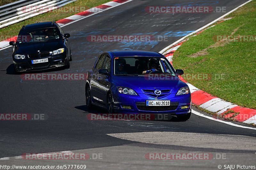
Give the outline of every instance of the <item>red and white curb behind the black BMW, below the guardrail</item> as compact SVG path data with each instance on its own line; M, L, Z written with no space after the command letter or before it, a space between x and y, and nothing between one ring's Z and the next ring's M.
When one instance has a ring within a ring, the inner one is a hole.
M61 27L63 27L63 26L65 26L65 25L71 24L71 23L73 23L73 22L75 22L75 21L78 21L78 20L87 18L87 17L89 17L89 16L91 16L91 15L95 15L95 14L97 14L97 13L99 13L99 12L105 11L105 10L107 10L107 9L116 7L116 6L118 6L118 5L121 5L121 4L130 2L130 1L132 1L132 0L113 0L113 1L107 2L107 3L105 3L105 4L102 4L102 5L93 7L93 8L91 8L91 9L85 10L85 11L83 11L83 12L77 13L77 14L72 15L72 16L70 16L70 17L67 17L67 18L64 18L64 19L60 19L59 21L56 21L56 22L57 22ZM18 37L18 36L15 36L15 37L6 39L6 40L4 40L4 41L0 41L0 50L3 50L3 49L5 49L5 48L10 47L9 42L10 42L10 41L15 41L15 42L16 42L17 37Z

